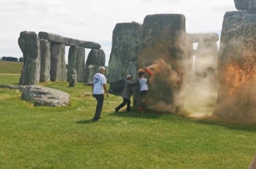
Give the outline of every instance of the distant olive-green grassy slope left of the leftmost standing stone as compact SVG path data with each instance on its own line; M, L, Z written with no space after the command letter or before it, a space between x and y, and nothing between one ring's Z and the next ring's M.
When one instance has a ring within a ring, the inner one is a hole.
M19 61L0 61L0 73L21 74L23 62Z

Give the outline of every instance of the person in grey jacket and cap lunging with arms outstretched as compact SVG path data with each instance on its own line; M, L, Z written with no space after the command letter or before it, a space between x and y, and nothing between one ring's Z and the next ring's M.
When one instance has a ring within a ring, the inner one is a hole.
M132 76L131 75L127 75L126 79L125 79L125 88L123 90L122 93L122 97L123 97L123 102L115 108L115 112L118 113L118 111L123 108L126 104L127 104L127 108L126 111L131 111L130 106L131 106L131 86L135 86L138 84L138 80L134 80L132 81Z

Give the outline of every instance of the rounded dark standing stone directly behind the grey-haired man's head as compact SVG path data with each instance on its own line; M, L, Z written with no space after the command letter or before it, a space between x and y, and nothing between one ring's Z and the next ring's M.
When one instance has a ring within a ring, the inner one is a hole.
M99 68L101 66L105 67L105 60L106 60L106 56L105 53L102 49L92 49L90 51L90 53L88 54L85 66L86 66L86 75L85 75L85 79L89 80L85 82L90 82L90 74L92 73L93 75L95 75L95 73L99 72ZM88 66L93 65L93 72L92 72L92 67L88 68ZM88 71L90 72L88 74ZM105 71L105 76L106 76L106 71Z

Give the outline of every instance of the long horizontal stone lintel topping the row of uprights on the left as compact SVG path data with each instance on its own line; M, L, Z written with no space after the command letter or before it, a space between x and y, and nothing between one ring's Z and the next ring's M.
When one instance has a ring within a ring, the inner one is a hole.
M62 37L60 35L52 34L52 33L48 33L48 32L39 32L38 36L40 39L46 39L52 43L62 43L62 44L65 44L66 46L82 46L84 48L89 48L89 49L101 48L99 43L90 42L90 41L80 41L78 39L72 39L72 38L66 38L66 37Z

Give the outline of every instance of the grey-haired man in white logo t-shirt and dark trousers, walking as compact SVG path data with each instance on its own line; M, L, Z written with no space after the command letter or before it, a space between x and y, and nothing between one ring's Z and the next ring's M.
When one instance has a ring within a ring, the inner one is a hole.
M101 111L102 111L102 106L104 103L104 90L107 93L107 97L109 97L109 94L107 92L107 87L106 87L106 77L104 76L105 73L105 68L100 67L99 68L99 73L96 73L93 76L93 84L92 84L92 92L93 92L93 97L96 98L97 100L97 107L95 111L95 115L93 120L97 121L99 120Z

